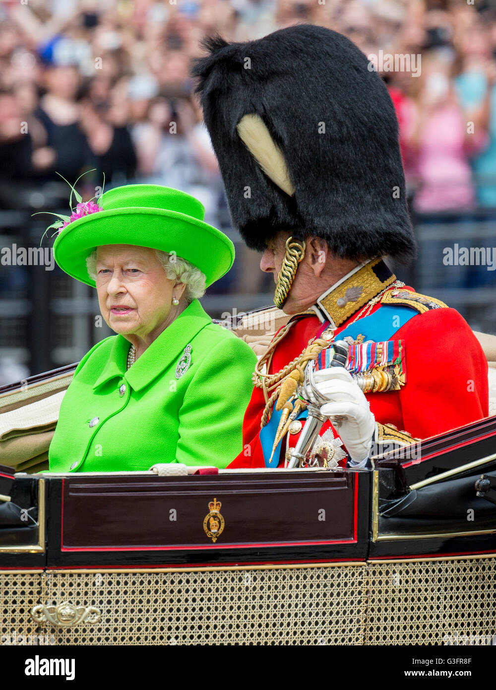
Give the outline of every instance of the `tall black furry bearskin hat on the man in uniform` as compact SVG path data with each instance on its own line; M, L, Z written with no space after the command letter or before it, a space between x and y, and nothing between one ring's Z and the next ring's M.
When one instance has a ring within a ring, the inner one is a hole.
M248 43L210 38L204 48L192 76L232 222L250 248L287 230L349 259L415 255L393 102L354 43L299 25ZM286 161L289 193L240 138L250 114Z

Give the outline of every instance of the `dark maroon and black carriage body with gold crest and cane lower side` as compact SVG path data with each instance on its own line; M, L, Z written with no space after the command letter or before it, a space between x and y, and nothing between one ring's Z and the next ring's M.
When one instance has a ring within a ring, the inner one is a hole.
M496 417L374 464L3 467L1 644L490 644Z

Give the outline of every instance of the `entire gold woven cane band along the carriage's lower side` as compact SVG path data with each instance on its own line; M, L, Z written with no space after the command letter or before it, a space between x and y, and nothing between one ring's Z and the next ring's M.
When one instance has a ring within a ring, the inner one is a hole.
M0 575L1 644L490 644L496 558ZM95 607L74 628L34 604ZM12 641L12 635L23 635Z

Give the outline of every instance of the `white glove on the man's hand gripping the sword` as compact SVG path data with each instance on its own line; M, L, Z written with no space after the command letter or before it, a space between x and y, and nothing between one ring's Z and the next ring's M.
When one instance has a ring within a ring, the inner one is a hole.
M351 464L365 462L372 446L375 417L368 401L342 366L331 366L313 373L315 388L328 402L321 404L320 411L339 430L341 441L350 455ZM338 417L334 420L333 417Z

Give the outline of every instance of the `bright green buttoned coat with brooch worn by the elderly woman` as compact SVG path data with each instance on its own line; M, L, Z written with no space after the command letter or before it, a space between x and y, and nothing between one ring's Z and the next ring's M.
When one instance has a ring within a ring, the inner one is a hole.
M190 365L179 375L188 344ZM157 462L226 467L242 450L252 349L212 324L197 299L126 371L129 346L113 335L79 362L50 444L50 471L143 471Z

